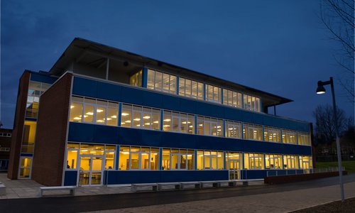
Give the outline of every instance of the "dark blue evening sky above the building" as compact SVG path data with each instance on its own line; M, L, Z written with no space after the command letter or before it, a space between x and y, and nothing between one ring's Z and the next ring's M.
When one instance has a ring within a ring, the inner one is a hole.
M48 71L81 37L293 99L278 115L313 121L317 104L331 104L317 81L344 74L319 9L317 0L1 1L0 119L12 128L23 70Z

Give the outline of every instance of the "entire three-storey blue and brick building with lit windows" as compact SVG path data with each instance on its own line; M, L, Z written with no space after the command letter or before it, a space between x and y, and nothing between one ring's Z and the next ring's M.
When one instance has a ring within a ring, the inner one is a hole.
M292 102L75 38L49 72L20 80L9 178L111 185L264 178L312 165Z

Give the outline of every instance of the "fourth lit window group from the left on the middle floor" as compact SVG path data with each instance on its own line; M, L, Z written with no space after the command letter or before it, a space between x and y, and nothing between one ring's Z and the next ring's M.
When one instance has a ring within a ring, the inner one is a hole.
M197 134L204 136L223 136L222 119L197 116Z

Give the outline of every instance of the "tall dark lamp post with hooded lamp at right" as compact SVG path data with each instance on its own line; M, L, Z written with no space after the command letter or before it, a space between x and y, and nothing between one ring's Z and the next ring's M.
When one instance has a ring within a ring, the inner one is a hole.
M317 94L324 94L325 89L324 85L330 84L332 88L332 101L333 101L333 121L335 126L335 137L337 138L337 155L338 155L338 170L339 170L339 184L340 191L342 196L342 202L344 202L344 185L343 185L343 170L342 170L342 155L340 152L340 141L339 141L339 130L338 130L338 119L337 119L337 106L335 105L335 94L334 94L334 83L333 77L330 77L330 80L327 82L318 81Z

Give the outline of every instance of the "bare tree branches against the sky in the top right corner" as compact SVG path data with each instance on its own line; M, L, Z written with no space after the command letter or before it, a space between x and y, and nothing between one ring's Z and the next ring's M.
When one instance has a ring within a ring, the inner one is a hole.
M330 32L331 39L340 44L341 49L334 55L342 67L342 75L337 79L354 102L354 0L321 0L320 19Z

